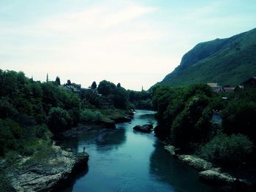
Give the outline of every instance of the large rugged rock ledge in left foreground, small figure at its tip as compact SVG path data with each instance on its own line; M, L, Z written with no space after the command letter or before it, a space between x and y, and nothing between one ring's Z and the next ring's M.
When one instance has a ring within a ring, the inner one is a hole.
M7 172L16 191L52 191L59 183L67 180L78 166L86 164L87 153L72 153L52 146L54 155L44 157L45 161L26 164L29 158Z

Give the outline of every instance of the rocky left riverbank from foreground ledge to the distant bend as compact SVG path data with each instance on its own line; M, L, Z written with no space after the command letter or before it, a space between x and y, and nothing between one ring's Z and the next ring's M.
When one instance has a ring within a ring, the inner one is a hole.
M132 112L122 110L105 110L104 118L99 123L79 123L59 136L73 137L88 131L90 128L116 128L116 123L129 122ZM58 139L58 135L55 139ZM83 167L89 160L87 153L78 153L72 147L55 145L50 139L35 140L31 147L36 152L30 155L17 155L1 160L1 185L10 191L52 191L60 183L69 180L75 169ZM38 142L38 143L37 143ZM12 154L12 153L11 153Z

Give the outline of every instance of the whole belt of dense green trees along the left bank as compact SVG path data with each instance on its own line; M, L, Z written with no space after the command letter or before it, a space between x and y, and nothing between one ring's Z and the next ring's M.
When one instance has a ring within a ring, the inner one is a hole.
M50 131L59 134L80 121L100 123L110 120L109 109L112 116L118 117L124 115L122 110L132 108L132 92L120 83L116 86L103 80L97 88L93 82L92 90L70 80L60 84L59 77L53 82L39 82L25 77L23 72L0 70L0 155L18 150L23 139L43 139ZM135 94L139 97L132 100L150 99L146 92Z

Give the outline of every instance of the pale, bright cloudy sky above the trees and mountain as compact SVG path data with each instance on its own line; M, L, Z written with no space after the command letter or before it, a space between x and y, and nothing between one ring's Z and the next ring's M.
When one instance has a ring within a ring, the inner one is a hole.
M197 43L252 28L255 0L0 0L0 69L147 90Z

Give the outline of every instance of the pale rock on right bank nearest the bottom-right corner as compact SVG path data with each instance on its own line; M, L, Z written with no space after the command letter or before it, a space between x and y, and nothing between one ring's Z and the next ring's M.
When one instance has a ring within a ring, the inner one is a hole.
M230 174L222 173L217 170L206 170L199 173L200 180L206 181L208 183L218 183L232 185L236 178L232 177Z

